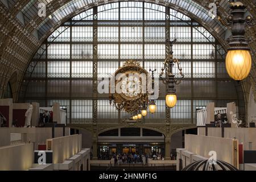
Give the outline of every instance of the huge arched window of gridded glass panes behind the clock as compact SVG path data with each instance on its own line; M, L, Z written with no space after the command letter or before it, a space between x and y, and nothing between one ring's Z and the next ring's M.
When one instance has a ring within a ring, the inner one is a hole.
M135 59L145 69L160 68L166 40L177 38L174 56L185 79L177 89L170 115L160 82L157 110L146 123L195 123L196 109L208 102L225 106L238 101L236 82L225 71L225 51L195 20L169 7L146 2L115 2L89 9L61 24L38 49L28 66L20 98L68 108L69 123L118 123L127 113L109 105L108 94L95 92L97 81L110 77L123 61ZM177 69L174 68L175 75ZM96 113L96 114L93 114ZM93 116L94 115L94 116Z

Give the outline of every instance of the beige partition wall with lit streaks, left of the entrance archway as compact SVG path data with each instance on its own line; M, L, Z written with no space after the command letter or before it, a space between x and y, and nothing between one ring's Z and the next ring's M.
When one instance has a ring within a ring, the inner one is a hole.
M81 151L82 135L52 138L48 139L46 144L47 150L52 150L53 164L63 163Z

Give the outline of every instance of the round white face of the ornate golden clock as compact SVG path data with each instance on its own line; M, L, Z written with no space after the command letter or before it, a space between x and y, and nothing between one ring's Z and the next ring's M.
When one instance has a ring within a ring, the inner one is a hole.
M141 94L141 80L136 76L127 75L121 81L122 96L127 98L137 98Z

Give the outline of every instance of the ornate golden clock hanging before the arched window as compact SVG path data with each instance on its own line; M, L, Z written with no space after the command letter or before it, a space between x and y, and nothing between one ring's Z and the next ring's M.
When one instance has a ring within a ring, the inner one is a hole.
M148 101L146 69L138 61L129 60L110 79L110 104L128 113L138 111L143 102Z

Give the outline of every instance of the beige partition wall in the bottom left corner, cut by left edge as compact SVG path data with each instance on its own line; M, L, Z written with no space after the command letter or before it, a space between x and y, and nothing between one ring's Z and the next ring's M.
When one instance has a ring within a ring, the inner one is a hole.
M32 143L0 147L0 171L23 171L32 167L34 150Z

